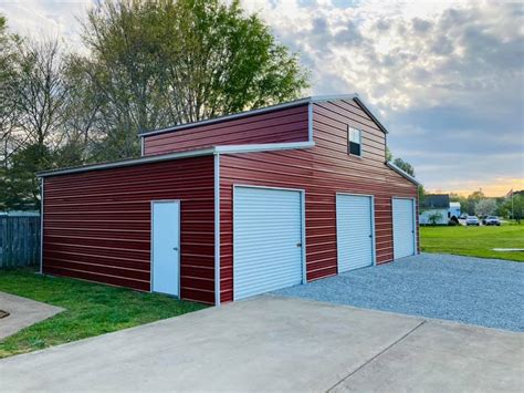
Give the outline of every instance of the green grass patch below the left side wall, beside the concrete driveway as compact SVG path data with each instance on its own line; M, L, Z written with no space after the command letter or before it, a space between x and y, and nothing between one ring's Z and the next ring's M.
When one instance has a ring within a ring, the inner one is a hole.
M0 341L0 358L136 327L206 307L158 293L42 277L29 270L0 270L0 291L65 309Z

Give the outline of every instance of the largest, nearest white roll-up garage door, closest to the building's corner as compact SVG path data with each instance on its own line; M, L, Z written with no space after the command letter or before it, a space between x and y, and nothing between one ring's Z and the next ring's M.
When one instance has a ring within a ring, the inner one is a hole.
M302 282L302 193L234 187L234 299Z

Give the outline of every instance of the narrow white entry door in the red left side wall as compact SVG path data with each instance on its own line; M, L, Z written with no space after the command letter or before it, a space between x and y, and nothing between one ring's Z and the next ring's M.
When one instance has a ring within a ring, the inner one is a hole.
M179 296L180 203L151 204L151 291Z

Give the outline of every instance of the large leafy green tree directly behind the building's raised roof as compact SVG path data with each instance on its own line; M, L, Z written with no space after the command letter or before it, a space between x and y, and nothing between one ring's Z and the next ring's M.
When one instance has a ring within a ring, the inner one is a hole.
M99 92L109 158L138 153L137 132L296 97L295 54L239 1L106 1L88 13L84 72Z

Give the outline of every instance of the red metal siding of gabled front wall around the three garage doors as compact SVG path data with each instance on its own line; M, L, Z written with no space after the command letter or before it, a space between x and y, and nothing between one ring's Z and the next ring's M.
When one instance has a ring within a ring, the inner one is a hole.
M392 260L391 197L416 197L417 187L385 165L386 136L358 104L313 111L314 148L220 158L221 301L233 299L233 184L305 189L307 280L337 273L336 193L375 195L377 263ZM347 124L363 130L363 157L347 154Z

